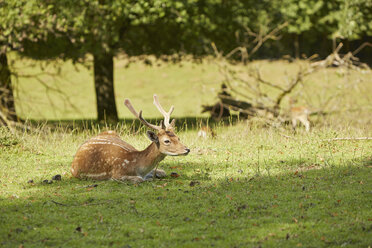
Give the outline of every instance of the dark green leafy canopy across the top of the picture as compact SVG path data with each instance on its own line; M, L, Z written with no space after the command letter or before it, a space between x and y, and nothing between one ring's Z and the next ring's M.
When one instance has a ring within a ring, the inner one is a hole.
M211 42L228 52L249 46L254 37L247 30L264 35L285 21L283 39L269 43L267 55L269 49L288 53L296 36L301 50L319 53L320 46L310 49L313 44L329 47L332 38L353 41L372 35L371 0L10 0L0 8L2 48L35 58L79 60L122 51L206 54Z

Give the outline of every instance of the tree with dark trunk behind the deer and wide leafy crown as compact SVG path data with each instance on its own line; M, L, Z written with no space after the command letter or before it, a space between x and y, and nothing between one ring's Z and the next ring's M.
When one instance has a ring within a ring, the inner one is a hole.
M256 25L252 25L252 20L257 16L268 16L263 10L269 1L248 8L253 3L239 0L10 0L2 8L8 13L18 10L18 14L7 16L9 25L4 30L8 31L7 39L11 38L12 43L21 48L18 49L21 54L82 63L87 55L93 57L98 120L115 122L118 119L113 82L116 54L201 55L211 50L211 42L228 51L236 44L246 43L243 36L234 36L237 30L244 33L247 27ZM39 12L33 11L35 9ZM24 11L30 14L23 16ZM14 30L12 24L18 22L21 23L19 30ZM11 49L15 47L12 44Z

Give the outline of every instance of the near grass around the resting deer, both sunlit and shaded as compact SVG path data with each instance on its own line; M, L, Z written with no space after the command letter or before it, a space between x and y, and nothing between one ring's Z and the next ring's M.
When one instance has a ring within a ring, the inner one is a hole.
M145 148L143 131L130 129L117 131ZM141 185L71 177L75 151L99 130L41 127L16 137L3 132L2 142L9 142L0 147L1 245L366 247L372 242L371 143L324 141L360 131L336 135L316 128L294 135L250 122L215 129L214 139L200 139L196 130L180 132L191 154L160 164L180 176ZM42 182L56 174L62 181Z

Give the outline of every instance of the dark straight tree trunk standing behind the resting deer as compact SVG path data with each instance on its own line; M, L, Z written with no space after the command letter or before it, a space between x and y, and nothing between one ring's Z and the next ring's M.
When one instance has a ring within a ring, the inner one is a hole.
M111 54L94 54L94 85L98 121L117 122L114 93L114 58Z

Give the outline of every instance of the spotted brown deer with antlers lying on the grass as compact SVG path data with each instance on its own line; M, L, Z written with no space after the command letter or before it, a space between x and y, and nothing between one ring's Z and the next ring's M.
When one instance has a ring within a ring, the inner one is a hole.
M169 123L173 106L169 112L165 112L154 95L154 104L164 116L164 122L161 121L160 125L156 126L143 119L142 110L138 114L128 99L124 104L145 126L157 131L157 134L147 131L147 137L152 143L145 150L138 151L121 140L114 131L103 132L86 141L78 149L71 166L74 177L140 183L153 177L154 173L157 177L166 176L164 170L157 169L154 172L155 166L166 155L187 155L190 152L174 134L175 120Z

